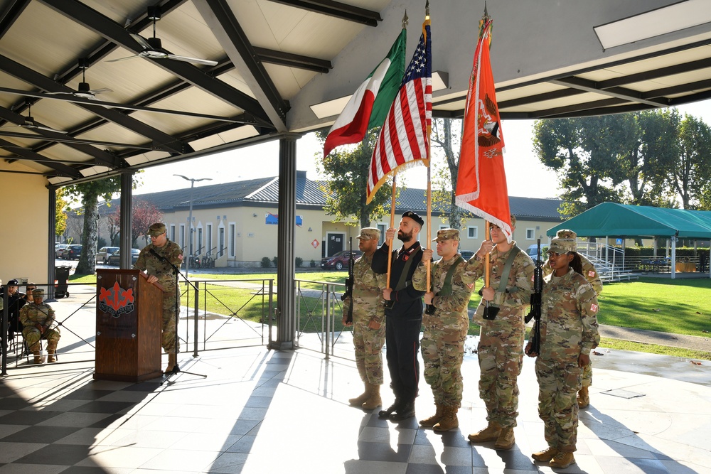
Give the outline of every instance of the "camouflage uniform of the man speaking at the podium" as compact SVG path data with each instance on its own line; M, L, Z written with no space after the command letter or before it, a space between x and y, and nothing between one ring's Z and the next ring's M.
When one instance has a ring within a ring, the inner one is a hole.
M151 254L151 249L166 259L168 262ZM166 239L163 247L148 244L138 256L134 269L144 270L149 275L158 277L158 283L163 286L163 325L161 345L166 353L180 352L180 344L176 335L176 276L173 273L173 264L180 268L183 263L183 250L180 245Z

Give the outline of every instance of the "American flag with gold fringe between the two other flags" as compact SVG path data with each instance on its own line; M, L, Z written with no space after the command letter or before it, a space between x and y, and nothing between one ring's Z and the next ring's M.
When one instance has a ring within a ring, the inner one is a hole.
M416 164L429 164L432 127L432 36L429 17L422 24L417 50L405 70L400 91L380 129L368 169L368 199L373 200L390 173Z

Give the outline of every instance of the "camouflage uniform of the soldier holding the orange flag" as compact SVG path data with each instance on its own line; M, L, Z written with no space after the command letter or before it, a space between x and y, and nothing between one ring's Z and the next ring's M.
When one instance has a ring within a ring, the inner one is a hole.
M515 246L515 242L512 244ZM506 292L500 292L498 286L510 252L518 254L508 274ZM491 303L500 309L493 320L483 319L485 303L482 299L474 314L474 322L481 325L478 348L481 371L479 397L486 404L487 421L503 428L513 428L518 416L517 379L523 367L523 316L530 304L535 265L518 247L511 247L503 253L494 247L489 258L489 284L495 290ZM466 262L462 280L466 284L473 284L481 278L483 272L483 260L473 257Z

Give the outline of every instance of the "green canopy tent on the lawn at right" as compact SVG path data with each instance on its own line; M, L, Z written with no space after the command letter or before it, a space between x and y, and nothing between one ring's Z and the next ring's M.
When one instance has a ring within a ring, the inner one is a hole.
M602 203L551 227L546 235L553 237L561 229L574 230L579 237L668 238L675 262L675 237L711 239L711 211ZM671 277L675 278L675 271Z

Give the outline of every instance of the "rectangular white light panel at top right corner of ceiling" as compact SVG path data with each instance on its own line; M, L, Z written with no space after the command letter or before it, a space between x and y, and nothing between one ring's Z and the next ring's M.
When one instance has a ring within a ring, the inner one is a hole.
M708 0L685 0L593 29L602 48L609 49L709 22Z

